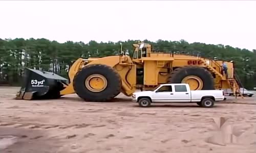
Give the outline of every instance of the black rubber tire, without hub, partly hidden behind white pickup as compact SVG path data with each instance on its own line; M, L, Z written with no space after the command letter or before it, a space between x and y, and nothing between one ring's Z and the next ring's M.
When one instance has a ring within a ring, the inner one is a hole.
M184 66L176 68L169 74L168 83L182 83L185 77L194 75L203 82L202 88L198 90L215 90L215 82L212 74L205 68L199 66ZM197 89L196 89L197 90Z

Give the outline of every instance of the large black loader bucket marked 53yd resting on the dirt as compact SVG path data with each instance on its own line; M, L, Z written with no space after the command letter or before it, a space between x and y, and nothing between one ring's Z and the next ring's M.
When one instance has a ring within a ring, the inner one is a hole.
M25 77L16 99L55 99L65 89L69 80L52 72L25 68Z

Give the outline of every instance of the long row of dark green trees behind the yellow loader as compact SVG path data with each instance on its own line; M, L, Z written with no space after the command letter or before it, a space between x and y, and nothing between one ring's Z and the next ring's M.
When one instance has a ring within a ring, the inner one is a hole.
M84 42L67 41L59 43L48 39L0 39L0 84L19 85L24 67L36 68L57 73L68 78L68 70L77 58L105 57L119 55L120 43L123 50L131 57L133 44L139 40L118 42ZM152 42L143 40L153 46L153 52L199 53L202 57L217 60L234 61L236 71L245 88L256 86L256 50L235 48L222 44L188 43L185 40Z

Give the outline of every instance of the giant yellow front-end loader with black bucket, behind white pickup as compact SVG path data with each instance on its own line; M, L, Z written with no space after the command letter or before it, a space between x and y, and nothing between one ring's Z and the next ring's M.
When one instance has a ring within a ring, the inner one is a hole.
M77 59L69 80L51 72L25 69L17 99L58 98L76 93L86 101L110 101L120 92L132 96L136 89L152 90L164 83L187 83L191 90L232 89L240 85L232 62L228 77L222 61L177 53L152 52L151 44L133 44L134 54Z

